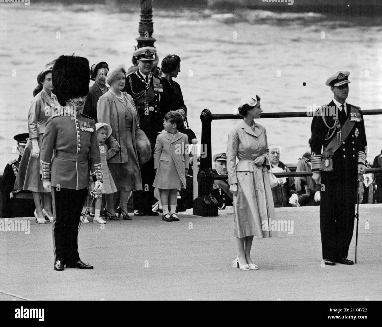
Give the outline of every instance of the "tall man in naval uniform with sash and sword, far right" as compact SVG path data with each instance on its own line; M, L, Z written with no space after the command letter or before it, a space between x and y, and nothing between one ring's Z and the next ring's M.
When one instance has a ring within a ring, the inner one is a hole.
M322 258L330 266L336 262L353 264L347 257L353 236L357 179L365 172L367 142L362 112L345 101L349 74L338 71L327 79L333 100L316 111L311 126L312 178L320 184L321 193Z

